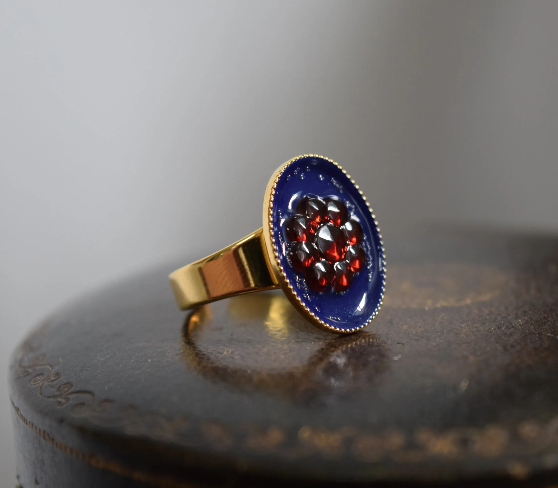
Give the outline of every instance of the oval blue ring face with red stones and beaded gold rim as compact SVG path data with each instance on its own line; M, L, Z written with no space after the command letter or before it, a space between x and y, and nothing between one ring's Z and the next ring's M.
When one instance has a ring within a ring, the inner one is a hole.
M288 161L272 181L266 245L287 297L327 330L367 326L382 305L386 260L362 192L337 163L315 154Z

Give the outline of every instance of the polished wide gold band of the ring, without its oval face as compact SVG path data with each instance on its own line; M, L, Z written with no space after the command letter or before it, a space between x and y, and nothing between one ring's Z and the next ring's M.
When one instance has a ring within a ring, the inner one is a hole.
M266 262L261 228L217 253L177 269L169 279L181 310L241 293L279 288Z

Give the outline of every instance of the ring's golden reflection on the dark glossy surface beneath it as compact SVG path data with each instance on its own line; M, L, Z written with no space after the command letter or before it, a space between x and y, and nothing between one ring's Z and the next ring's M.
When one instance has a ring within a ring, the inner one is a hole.
M281 292L205 305L183 331L185 360L199 374L294 402L367 388L388 365L376 336L331 336L309 327Z

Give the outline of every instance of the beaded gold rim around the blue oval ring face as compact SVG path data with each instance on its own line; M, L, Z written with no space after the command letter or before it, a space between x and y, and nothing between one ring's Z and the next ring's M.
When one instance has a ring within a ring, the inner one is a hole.
M325 161L329 161L330 163L333 163L335 166L337 166L341 170L341 172L343 172L343 175L345 175L349 179L349 181L358 190L360 196L362 196L365 204L368 207L368 210L372 215L372 219L374 220L374 225L376 225L376 229L378 230L378 235L380 238L380 245L381 245L381 254L378 256L378 259L382 265L381 269L379 270L382 277L382 294L378 306L376 307L376 310L374 310L372 316L365 323L363 323L363 325L359 327L344 329L344 328L330 325L329 323L318 318L316 314L312 312L310 308L308 308L305 305L302 298L299 296L299 294L296 292L294 287L291 285L290 280L287 278L285 270L283 269L283 266L280 262L279 252L277 249L277 244L275 242L275 236L273 236L273 200L275 198L275 190L277 188L277 182L281 177L283 171L285 171L286 168L290 166L292 163L294 163L295 161L298 161L306 157L315 157L315 158L323 159ZM266 250L265 253L266 262L270 270L272 270L273 274L275 275L277 282L280 284L281 288L283 289L283 292L285 292L287 298L293 303L293 305L297 308L297 310L299 310L299 312L302 313L302 315L305 316L307 320L312 322L315 326L318 326L330 332L338 332L339 334L351 334L352 332L357 332L359 330L362 330L364 327L367 327L374 320L374 318L376 318L378 312L380 311L380 308L382 307L384 293L386 291L386 250L384 249L384 243L382 239L383 239L382 234L380 233L380 229L378 227L378 221L376 220L376 215L374 215L374 212L370 206L370 202L368 202L362 190L360 190L360 187L353 180L353 178L350 177L347 171L344 170L343 167L341 167L338 163L336 163L332 159L327 158L325 156L320 156L320 154L301 154L300 156L296 156L291 160L288 160L286 163L283 163L283 165L278 167L277 170L273 173L273 175L271 175L270 181L267 183L266 195L264 197L264 202L263 202L262 247Z

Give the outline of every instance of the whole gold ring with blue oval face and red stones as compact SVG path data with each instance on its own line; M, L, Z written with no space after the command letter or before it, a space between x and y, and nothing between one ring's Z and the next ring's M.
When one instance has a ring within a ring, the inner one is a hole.
M262 228L169 279L182 310L282 288L312 324L347 334L378 315L386 258L376 216L347 171L303 154L271 176Z

